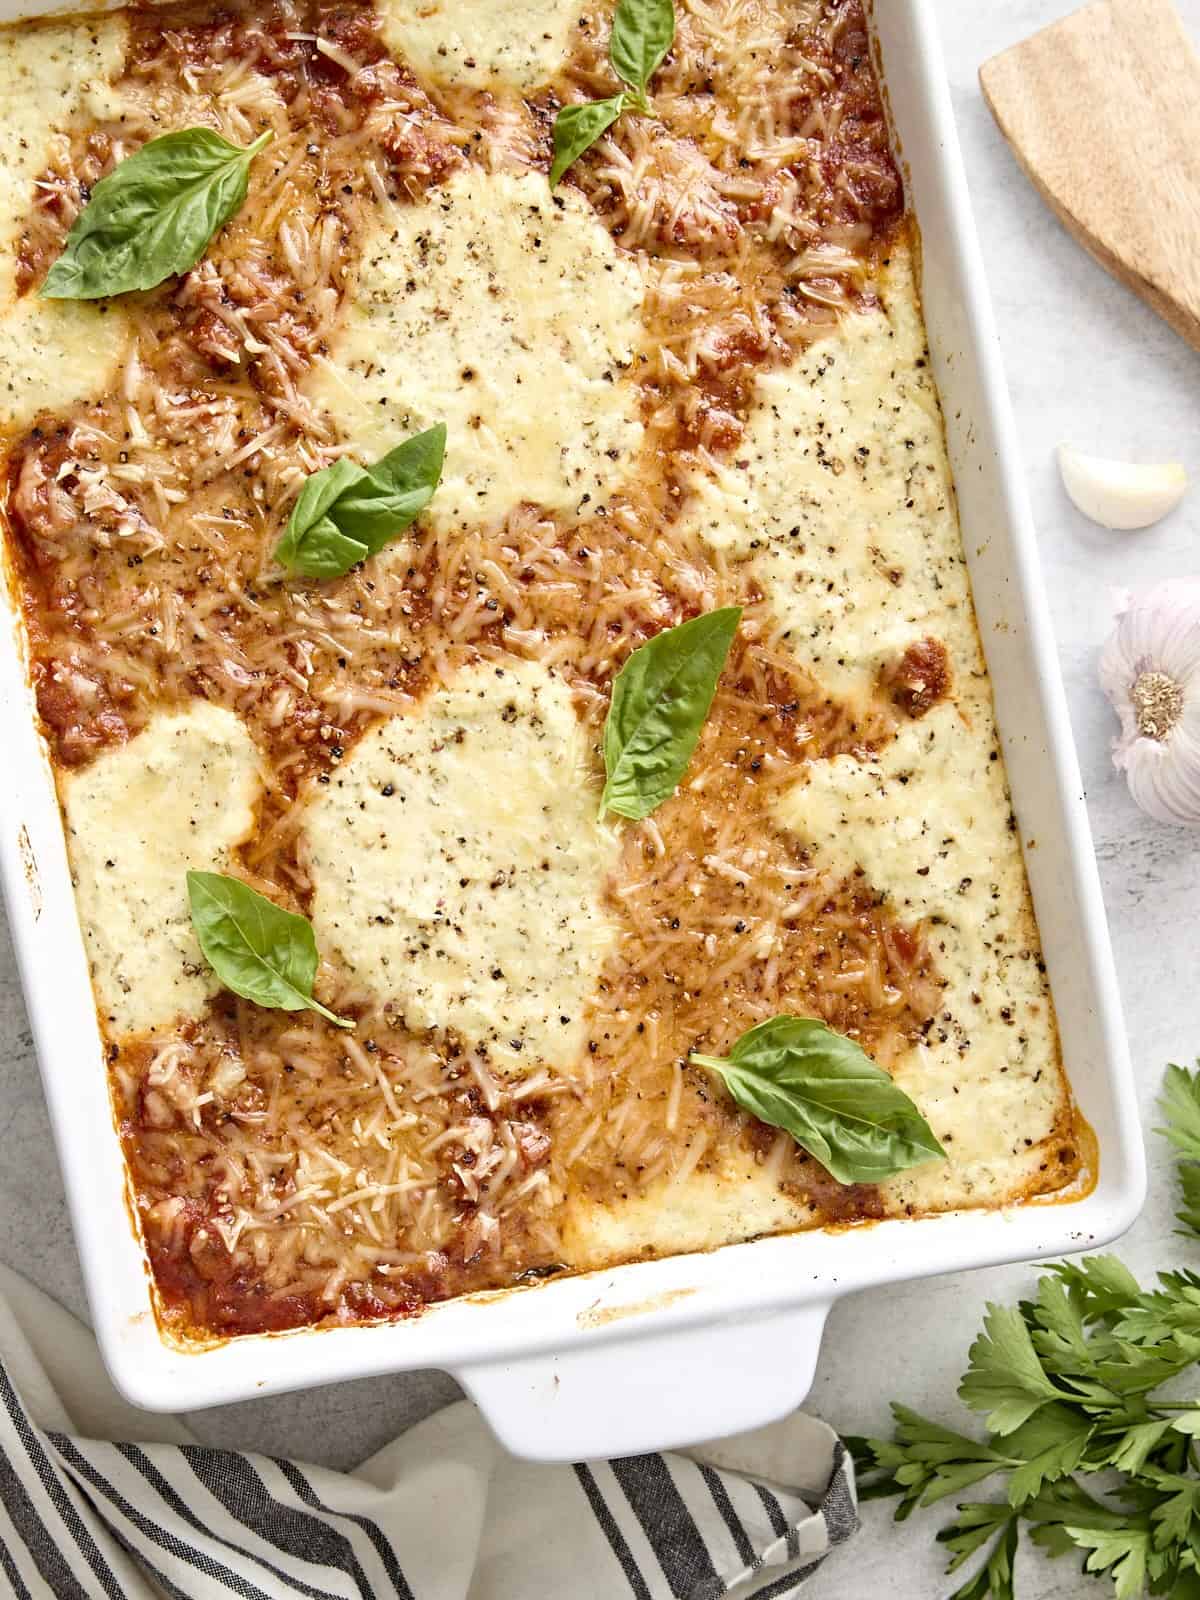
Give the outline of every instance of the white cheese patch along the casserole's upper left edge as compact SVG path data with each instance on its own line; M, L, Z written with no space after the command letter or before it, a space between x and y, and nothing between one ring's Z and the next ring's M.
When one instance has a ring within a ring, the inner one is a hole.
M117 18L0 30L0 429L101 392L128 341L109 304L18 301L13 259L34 178L56 134L107 94L125 35Z

